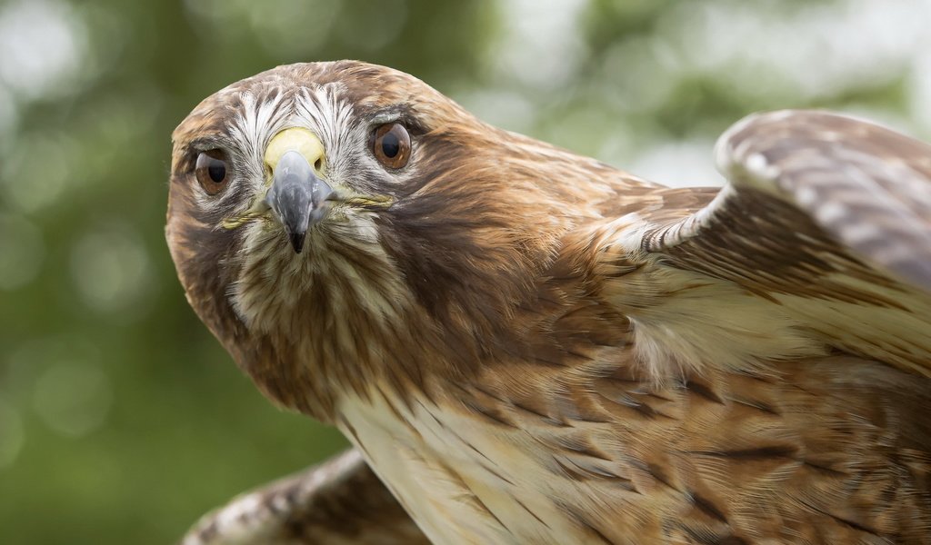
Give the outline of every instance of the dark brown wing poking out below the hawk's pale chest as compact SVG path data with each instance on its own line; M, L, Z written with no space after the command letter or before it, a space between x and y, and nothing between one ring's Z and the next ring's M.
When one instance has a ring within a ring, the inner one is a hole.
M429 541L356 450L234 498L181 545L407 545Z

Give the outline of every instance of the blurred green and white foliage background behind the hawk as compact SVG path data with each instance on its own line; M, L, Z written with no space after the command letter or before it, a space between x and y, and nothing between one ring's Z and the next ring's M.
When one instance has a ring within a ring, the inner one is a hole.
M0 543L169 543L344 447L268 404L183 298L170 133L277 64L413 73L498 126L719 183L746 113L931 137L931 3L0 0Z

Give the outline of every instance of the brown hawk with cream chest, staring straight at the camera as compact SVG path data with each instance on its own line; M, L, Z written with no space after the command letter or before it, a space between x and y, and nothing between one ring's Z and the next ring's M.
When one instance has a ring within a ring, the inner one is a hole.
M185 543L931 543L931 147L751 115L670 189L355 61L174 132L196 313L343 458Z

